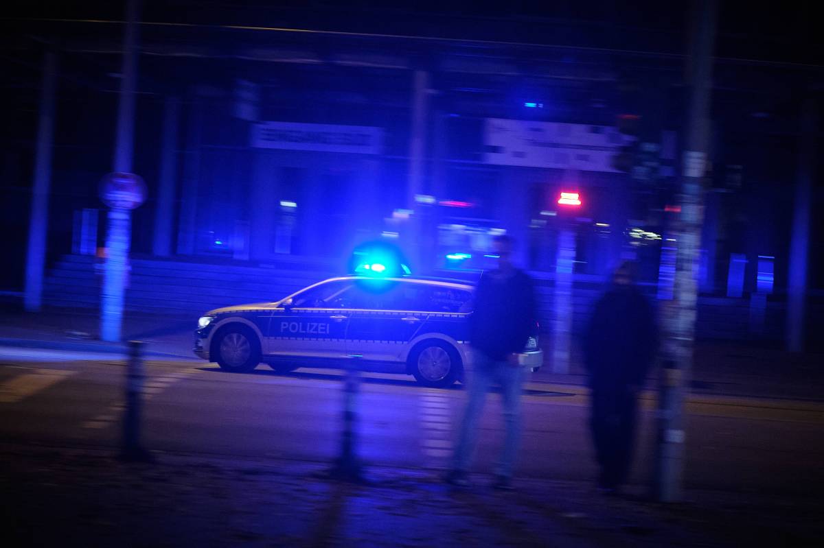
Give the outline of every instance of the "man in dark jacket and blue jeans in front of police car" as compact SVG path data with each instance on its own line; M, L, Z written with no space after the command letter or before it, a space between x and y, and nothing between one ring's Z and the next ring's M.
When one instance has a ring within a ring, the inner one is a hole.
M498 268L485 272L475 290L475 309L470 319L473 361L468 379L469 393L452 471L447 475L447 482L456 486L468 485L466 475L477 442L486 392L497 382L503 399L506 437L493 486L511 488L521 437L521 392L525 374L525 368L518 363L517 353L523 351L529 336L536 333L537 325L535 290L531 278L511 262L513 243L507 235L494 239Z

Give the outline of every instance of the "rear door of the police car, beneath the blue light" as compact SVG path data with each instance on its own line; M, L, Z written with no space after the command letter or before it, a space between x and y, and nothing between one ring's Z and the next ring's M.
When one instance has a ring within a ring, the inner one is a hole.
M348 354L364 360L399 362L406 343L426 321L428 313L410 309L416 285L392 281L387 286L368 283L353 288L353 309L346 334Z

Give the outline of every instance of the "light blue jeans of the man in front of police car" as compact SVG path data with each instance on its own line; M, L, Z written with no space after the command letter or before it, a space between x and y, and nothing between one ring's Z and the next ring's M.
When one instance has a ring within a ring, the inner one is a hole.
M495 473L512 477L521 439L521 392L524 368L508 361L496 361L480 351L474 351L473 367L467 378L467 400L463 420L458 429L457 444L452 462L455 471L466 473L472 464L478 441L480 417L484 411L486 393L497 381L501 386L505 437L501 457Z

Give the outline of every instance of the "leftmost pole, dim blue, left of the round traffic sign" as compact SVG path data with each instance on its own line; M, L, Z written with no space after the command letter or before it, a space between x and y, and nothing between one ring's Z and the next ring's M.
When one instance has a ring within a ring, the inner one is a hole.
M43 270L46 235L49 230L49 187L51 186L52 141L54 138L54 96L57 88L57 54L48 51L43 58L43 83L40 87L40 119L37 123L35 182L31 193L29 244L26 250L26 310L37 312L43 302Z

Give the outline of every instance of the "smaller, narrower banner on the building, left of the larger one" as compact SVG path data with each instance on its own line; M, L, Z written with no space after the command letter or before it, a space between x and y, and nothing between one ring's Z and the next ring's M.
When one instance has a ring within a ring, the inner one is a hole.
M381 154L382 128L325 123L261 122L252 124L251 145L290 151Z

